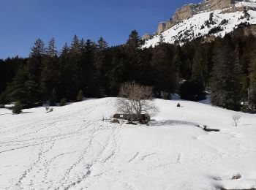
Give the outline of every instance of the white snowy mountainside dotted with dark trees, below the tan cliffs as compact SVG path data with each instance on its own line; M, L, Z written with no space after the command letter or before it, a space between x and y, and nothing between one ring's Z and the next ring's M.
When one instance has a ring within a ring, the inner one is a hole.
M252 1L241 2L236 4L236 6L244 7L245 4L251 4L251 6L253 4L256 7L256 3ZM163 32L163 41L182 45L184 42L197 37L206 37L208 34L214 37L224 37L225 34L233 31L241 23L256 24L256 11L249 10L248 13L249 15L242 11L224 13L223 10L202 12ZM211 15L213 15L212 21L210 19ZM156 35L153 39L146 41L143 47L154 47L159 44L159 41L160 35Z

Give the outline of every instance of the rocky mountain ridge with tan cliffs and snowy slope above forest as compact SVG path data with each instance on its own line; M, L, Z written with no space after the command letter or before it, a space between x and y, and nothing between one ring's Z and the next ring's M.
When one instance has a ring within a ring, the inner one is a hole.
M253 26L256 24L256 1L231 1L230 6L224 1L218 0L221 4L213 4L212 1L217 0L188 4L177 9L173 19L159 24L153 37L143 37L146 39L144 47L154 47L160 41L182 45L197 37L224 37L239 26L246 26L245 35L256 34Z

